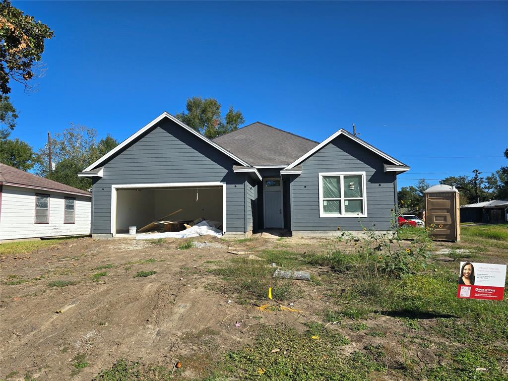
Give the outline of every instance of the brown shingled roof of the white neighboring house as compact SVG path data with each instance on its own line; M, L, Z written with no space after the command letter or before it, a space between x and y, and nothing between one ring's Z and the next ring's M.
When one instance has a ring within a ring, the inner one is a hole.
M91 194L86 192L86 190L81 190L73 186L36 176L2 163L0 163L0 184L21 186L23 188L55 190L56 192L91 197Z

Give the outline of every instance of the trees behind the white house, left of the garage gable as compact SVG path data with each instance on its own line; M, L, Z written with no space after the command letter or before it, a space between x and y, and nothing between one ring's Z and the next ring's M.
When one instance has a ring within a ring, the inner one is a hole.
M91 180L78 177L78 172L118 145L110 135L98 143L96 141L95 129L71 123L69 128L55 134L51 139L51 160L55 163L54 170L49 171L48 148L44 147L38 152L37 174L62 184L88 189Z

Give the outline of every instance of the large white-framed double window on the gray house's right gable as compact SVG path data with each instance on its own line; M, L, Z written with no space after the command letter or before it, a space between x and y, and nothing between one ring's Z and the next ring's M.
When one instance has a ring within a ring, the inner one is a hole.
M319 174L320 217L366 217L365 172Z

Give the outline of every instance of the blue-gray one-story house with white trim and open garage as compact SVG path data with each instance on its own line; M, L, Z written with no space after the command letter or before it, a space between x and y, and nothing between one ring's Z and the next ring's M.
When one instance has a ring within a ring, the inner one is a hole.
M226 235L390 227L409 167L348 133L318 143L256 122L210 140L163 113L79 176L92 178L92 234L151 221L216 221Z

